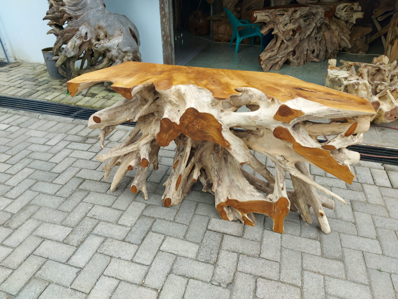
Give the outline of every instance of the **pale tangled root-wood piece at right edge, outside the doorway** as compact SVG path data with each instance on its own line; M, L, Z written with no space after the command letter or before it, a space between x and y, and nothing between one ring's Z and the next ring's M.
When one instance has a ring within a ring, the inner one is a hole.
M392 122L398 118L398 67L387 56L373 58L372 63L329 60L326 87L367 98L375 108L371 118L375 124ZM355 71L355 66L359 67Z

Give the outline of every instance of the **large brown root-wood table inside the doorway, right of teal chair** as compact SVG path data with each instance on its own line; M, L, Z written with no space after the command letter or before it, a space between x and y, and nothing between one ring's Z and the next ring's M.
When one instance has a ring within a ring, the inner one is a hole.
M274 38L259 56L264 71L279 70L285 61L303 65L310 61L336 58L349 43L350 31L361 6L357 2L292 4L252 11L254 22L265 22L264 35L273 30Z

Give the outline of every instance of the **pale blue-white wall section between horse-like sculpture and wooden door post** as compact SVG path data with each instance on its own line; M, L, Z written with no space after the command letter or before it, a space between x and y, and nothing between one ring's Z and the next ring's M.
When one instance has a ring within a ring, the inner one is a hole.
M104 0L109 12L124 14L140 34L143 62L163 63L159 0Z

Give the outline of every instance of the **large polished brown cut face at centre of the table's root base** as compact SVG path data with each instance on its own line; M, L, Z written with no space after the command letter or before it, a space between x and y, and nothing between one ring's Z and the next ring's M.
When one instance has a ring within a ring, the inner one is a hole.
M199 112L191 107L179 118L179 124L168 118L162 118L156 142L160 146L168 146L172 140L183 133L193 140L208 140L230 149L230 144L224 139L221 131L221 124L212 114Z

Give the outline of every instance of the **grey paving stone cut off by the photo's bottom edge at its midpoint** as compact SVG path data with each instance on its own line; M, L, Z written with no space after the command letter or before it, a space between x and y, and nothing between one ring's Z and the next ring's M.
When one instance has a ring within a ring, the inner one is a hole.
M194 279L189 279L185 290L185 299L227 299L230 296L230 290L216 285L207 284Z

